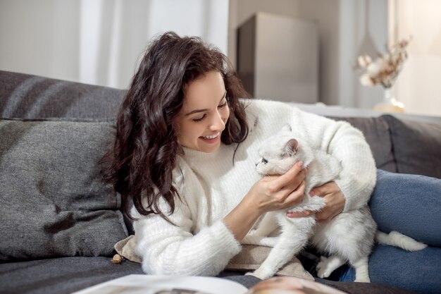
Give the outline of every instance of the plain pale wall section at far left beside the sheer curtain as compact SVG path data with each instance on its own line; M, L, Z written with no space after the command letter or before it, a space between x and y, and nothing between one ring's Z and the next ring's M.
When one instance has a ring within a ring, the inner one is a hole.
M0 69L75 80L79 18L76 1L1 0Z

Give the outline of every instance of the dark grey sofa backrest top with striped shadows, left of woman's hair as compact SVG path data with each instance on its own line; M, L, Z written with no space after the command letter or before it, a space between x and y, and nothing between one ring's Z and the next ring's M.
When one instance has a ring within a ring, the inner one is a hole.
M0 117L113 121L125 90L0 71Z

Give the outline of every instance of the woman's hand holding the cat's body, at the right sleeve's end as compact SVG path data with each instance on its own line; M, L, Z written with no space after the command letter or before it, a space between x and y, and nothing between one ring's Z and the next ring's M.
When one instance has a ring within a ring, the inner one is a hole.
M344 209L346 200L335 182L328 182L319 187L313 188L311 192L309 192L309 195L324 197L325 200L325 207L323 207L320 212L316 212L317 221L330 221ZM287 216L304 217L313 213L314 212L307 210L305 212L291 212L287 214Z

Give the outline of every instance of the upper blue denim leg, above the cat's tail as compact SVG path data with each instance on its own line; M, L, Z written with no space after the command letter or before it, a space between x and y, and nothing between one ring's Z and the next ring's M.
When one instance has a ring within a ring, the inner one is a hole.
M378 170L369 202L378 229L441 247L441 180Z

